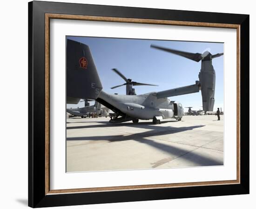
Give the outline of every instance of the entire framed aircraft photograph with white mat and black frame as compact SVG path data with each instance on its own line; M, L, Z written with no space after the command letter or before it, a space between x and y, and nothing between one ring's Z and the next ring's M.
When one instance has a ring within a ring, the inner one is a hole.
M249 15L28 12L30 207L249 194Z

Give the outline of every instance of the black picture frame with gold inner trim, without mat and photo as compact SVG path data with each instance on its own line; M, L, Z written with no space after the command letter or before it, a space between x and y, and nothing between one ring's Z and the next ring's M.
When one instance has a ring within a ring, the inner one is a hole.
M50 20L235 28L237 178L230 181L50 189ZM28 3L28 205L33 208L249 194L249 15L32 1ZM243 121L243 123L242 123Z

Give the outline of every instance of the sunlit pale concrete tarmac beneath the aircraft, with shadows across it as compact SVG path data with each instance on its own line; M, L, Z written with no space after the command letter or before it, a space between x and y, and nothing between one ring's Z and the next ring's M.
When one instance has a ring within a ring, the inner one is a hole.
M67 118L67 172L223 165L223 115L162 124Z

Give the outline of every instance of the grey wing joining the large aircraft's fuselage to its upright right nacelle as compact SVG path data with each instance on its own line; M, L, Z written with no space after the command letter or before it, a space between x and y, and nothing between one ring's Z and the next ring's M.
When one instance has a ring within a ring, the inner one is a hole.
M199 92L199 89L200 89L199 81L195 81L194 85L187 85L187 86L182 86L175 89L169 89L166 91L159 91L159 92L153 93L153 95L156 96L157 98L167 98L167 97L174 97L174 96L183 95L183 94L192 94L195 92Z

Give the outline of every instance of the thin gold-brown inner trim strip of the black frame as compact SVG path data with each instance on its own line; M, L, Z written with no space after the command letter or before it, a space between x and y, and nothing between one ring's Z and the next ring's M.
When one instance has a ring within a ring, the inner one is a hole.
M91 21L108 21L108 22L125 22L125 23L143 23L159 24L173 26L201 26L201 27L220 27L236 29L236 180L227 181L209 181L209 182L190 182L190 183L166 183L166 184L148 184L133 186L115 186L115 187L98 187L98 188L81 188L81 189L50 189L50 19L65 20L91 20ZM77 193L77 192L100 192L113 190L134 190L134 189L160 189L173 187L188 186L208 186L220 184L238 184L240 183L240 25L207 23L207 22L187 22L174 20L150 20L150 19L133 19L133 18L116 18L102 16L84 16L68 14L45 14L45 195L60 193Z

